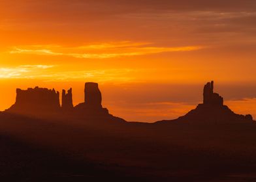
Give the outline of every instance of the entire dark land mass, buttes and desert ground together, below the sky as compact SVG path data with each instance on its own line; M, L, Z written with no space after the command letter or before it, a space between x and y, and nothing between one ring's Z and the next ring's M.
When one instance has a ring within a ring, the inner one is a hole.
M97 83L84 91L73 106L72 89L61 105L54 89L17 89L0 112L2 181L255 181L255 122L225 106L214 82L196 109L157 123L108 114Z

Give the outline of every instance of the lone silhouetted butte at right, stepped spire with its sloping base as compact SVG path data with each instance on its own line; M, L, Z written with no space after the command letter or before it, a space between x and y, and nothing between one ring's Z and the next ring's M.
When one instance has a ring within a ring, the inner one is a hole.
M214 81L204 86L203 103L197 105L196 109L189 111L178 120L204 122L204 123L227 123L252 121L250 114L244 116L235 114L229 107L223 105L223 98L214 93Z

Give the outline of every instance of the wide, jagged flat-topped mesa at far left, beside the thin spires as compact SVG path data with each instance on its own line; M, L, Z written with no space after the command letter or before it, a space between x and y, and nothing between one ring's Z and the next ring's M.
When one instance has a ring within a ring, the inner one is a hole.
M59 92L48 88L28 88L16 90L16 102L7 112L17 114L38 115L59 112Z

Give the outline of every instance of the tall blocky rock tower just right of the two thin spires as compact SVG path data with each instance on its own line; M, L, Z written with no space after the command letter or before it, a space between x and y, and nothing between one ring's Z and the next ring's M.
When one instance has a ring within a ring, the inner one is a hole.
M102 107L101 91L97 83L86 83L84 88L84 103L90 107Z

